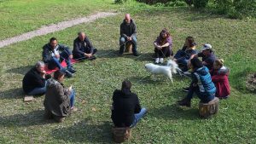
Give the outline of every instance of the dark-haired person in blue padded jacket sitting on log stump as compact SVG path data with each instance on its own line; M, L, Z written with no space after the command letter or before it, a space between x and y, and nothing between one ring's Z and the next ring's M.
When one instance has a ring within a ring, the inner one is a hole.
M191 99L195 93L200 98L201 102L207 103L215 97L216 88L212 83L212 78L207 66L203 66L201 60L193 58L190 60L192 69L192 82L189 86L188 95L182 100L177 101L179 106L191 106Z

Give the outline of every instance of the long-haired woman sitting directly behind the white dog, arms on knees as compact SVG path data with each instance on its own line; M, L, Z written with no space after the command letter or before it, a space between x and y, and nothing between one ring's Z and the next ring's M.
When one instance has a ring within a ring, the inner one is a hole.
M172 37L168 30L164 28L159 37L154 41L155 63L163 63L165 57L172 55Z

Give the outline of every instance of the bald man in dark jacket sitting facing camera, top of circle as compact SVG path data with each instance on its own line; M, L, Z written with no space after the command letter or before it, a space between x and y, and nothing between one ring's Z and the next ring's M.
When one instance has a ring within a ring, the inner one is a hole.
M131 19L130 14L125 14L125 20L120 25L120 39L119 39L119 55L123 55L125 51L125 44L132 44L132 53L138 56L137 53L137 26L134 20Z

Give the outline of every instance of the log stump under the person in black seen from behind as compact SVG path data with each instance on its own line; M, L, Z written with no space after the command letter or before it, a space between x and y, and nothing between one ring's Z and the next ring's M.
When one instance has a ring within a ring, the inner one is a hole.
M121 143L128 140L131 136L131 129L129 127L113 128L113 141Z

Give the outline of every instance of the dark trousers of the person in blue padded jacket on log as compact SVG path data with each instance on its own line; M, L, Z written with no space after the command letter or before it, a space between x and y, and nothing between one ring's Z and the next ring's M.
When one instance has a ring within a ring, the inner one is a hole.
M189 100L191 100L193 98L193 95L194 93L199 97L199 99L201 100L201 102L203 103L207 103L209 101L212 101L215 97L215 93L202 93L200 90L199 90L199 87L193 87L192 85L190 85L189 87L189 92L188 92L188 95L187 95L187 98Z

